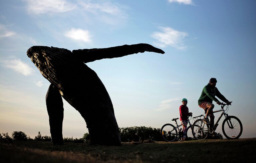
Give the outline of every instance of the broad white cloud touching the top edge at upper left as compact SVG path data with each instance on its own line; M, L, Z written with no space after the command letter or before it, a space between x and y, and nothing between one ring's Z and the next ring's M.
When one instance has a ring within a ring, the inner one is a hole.
M23 0L27 2L28 12L34 14L61 13L75 9L76 5L65 0Z

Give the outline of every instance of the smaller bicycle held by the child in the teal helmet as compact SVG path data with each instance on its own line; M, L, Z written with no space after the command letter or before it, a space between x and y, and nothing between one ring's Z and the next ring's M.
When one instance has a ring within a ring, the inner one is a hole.
M190 120L192 115L189 116L188 121L187 121L187 134L186 134L186 140L193 140L193 134L192 134L192 125L190 123ZM182 124L178 125L177 123L177 119L179 118L174 118L172 119L172 121L175 121L176 123L176 127L170 123L167 123L165 125L163 125L163 127L161 128L161 135L163 136L165 141L175 141L175 140L181 140L181 138L184 136L183 132L182 132ZM179 128L181 127L181 128Z

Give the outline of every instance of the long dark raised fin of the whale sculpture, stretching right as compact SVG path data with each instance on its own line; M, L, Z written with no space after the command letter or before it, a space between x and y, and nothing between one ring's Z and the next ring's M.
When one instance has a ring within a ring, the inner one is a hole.
M78 49L73 50L72 53L74 56L82 59L84 63L88 63L106 58L117 58L135 53L144 53L146 51L161 54L165 53L163 50L155 48L149 44L122 45L101 49Z

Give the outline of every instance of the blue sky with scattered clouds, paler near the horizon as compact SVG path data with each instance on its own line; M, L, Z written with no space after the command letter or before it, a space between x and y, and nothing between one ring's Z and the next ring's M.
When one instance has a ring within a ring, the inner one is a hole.
M255 137L255 7L255 0L0 0L0 133L50 135L50 82L27 57L30 47L72 51L147 43L165 54L86 64L105 85L119 127L174 124L182 98L193 116L203 114L197 101L216 78L233 101L228 114L243 124L240 138ZM88 132L84 119L63 103L63 137L81 138Z

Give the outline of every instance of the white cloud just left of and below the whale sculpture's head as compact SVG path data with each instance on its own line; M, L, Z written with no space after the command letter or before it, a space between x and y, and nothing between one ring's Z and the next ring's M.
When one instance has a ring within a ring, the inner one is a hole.
M1 60L0 62L3 63L3 66L6 68L12 69L25 76L29 76L34 72L34 69L20 61L20 59Z

